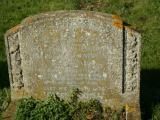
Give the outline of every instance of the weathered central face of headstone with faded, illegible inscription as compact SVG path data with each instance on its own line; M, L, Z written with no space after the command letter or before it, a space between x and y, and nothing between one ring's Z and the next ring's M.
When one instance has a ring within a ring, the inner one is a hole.
M102 99L107 89L120 92L122 69L114 68L122 67L122 30L112 34L114 29L86 18L55 19L22 29L22 66L29 91L35 93L34 78L45 93L79 88L84 98Z

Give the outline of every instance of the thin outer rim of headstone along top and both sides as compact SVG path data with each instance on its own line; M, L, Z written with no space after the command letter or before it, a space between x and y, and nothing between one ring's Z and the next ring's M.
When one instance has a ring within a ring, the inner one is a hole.
M104 19L104 20L109 20L111 21L111 24L116 27L116 28L119 28L119 29L125 29L125 31L127 31L127 33L129 34L133 34L134 36L136 36L138 38L138 51L137 53L140 53L140 47L141 47L141 44L140 44L140 39L141 39L141 35L135 31L134 29L128 27L128 26L125 26L123 24L123 20L119 17L119 16L116 16L116 15L111 15L111 14L107 14L107 13L100 13L100 12L93 12L93 11L77 11L77 10L71 10L71 11L56 11L56 12L46 12L46 13L40 13L38 15L34 15L34 16L30 16L30 17L27 17L25 18L19 25L9 29L6 33L5 33L5 44L6 44L6 53L7 53L7 60L8 60L8 65L9 65L9 76L10 76L10 80L12 81L12 70L11 70L11 61L10 61L10 55L8 54L9 53L9 44L8 44L8 36L11 36L13 34L16 34L18 33L22 28L28 26L28 25L31 25L35 22L39 22L41 20L44 20L44 19L47 19L47 18L54 18L56 17L56 15L72 15L72 14L79 14L79 15L85 15L85 16L89 16L92 17L97 17L99 19ZM140 54L138 56L138 68L139 68L139 72L138 72L138 88L140 88ZM139 93L138 93L138 96L139 97Z

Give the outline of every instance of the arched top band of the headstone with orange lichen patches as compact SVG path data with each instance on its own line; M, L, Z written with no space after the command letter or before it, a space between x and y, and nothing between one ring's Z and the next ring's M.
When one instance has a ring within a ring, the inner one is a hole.
M110 24L113 27L118 29L125 29L129 32L134 32L136 35L140 35L137 31L125 25L122 18L117 15L94 12L94 11L82 11L82 10L70 10L70 11L53 11L53 12L45 12L37 15L29 16L25 18L19 25L11 28L6 32L5 36L9 34L13 34L24 27L32 25L37 22L45 22L47 20L61 20L61 19L95 19L96 21L103 22L103 24ZM131 33L132 34L132 33Z

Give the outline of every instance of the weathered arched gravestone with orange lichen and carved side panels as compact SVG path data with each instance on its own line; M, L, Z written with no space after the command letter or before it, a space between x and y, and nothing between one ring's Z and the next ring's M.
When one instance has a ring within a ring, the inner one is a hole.
M31 16L5 34L11 99L50 93L126 106L140 119L140 34L120 17L86 11Z

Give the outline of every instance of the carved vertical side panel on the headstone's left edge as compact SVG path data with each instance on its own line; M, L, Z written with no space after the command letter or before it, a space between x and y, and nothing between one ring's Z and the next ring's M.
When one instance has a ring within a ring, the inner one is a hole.
M11 87L20 89L24 86L23 75L21 69L21 58L19 49L18 33L13 33L11 36L6 37L8 44L8 57L9 57L9 71L11 74Z

